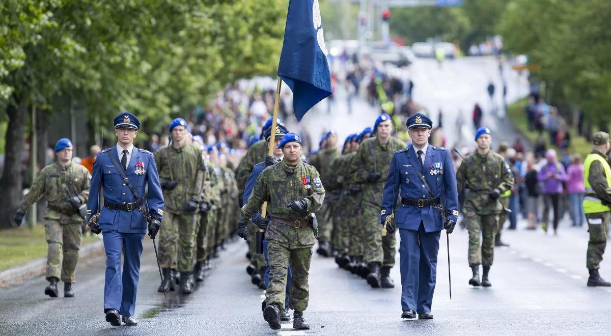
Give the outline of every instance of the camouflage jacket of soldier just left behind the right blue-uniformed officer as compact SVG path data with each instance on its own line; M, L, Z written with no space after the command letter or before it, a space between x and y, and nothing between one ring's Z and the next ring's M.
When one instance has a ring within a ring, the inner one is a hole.
M390 137L386 145L380 144L377 137L370 137L361 142L359 150L350 163L350 172L354 183L360 185L363 192L363 200L365 202L381 205L382 192L384 191L384 182L392 161L392 156L403 148L408 147L405 142ZM368 183L367 173L381 173L378 181Z

